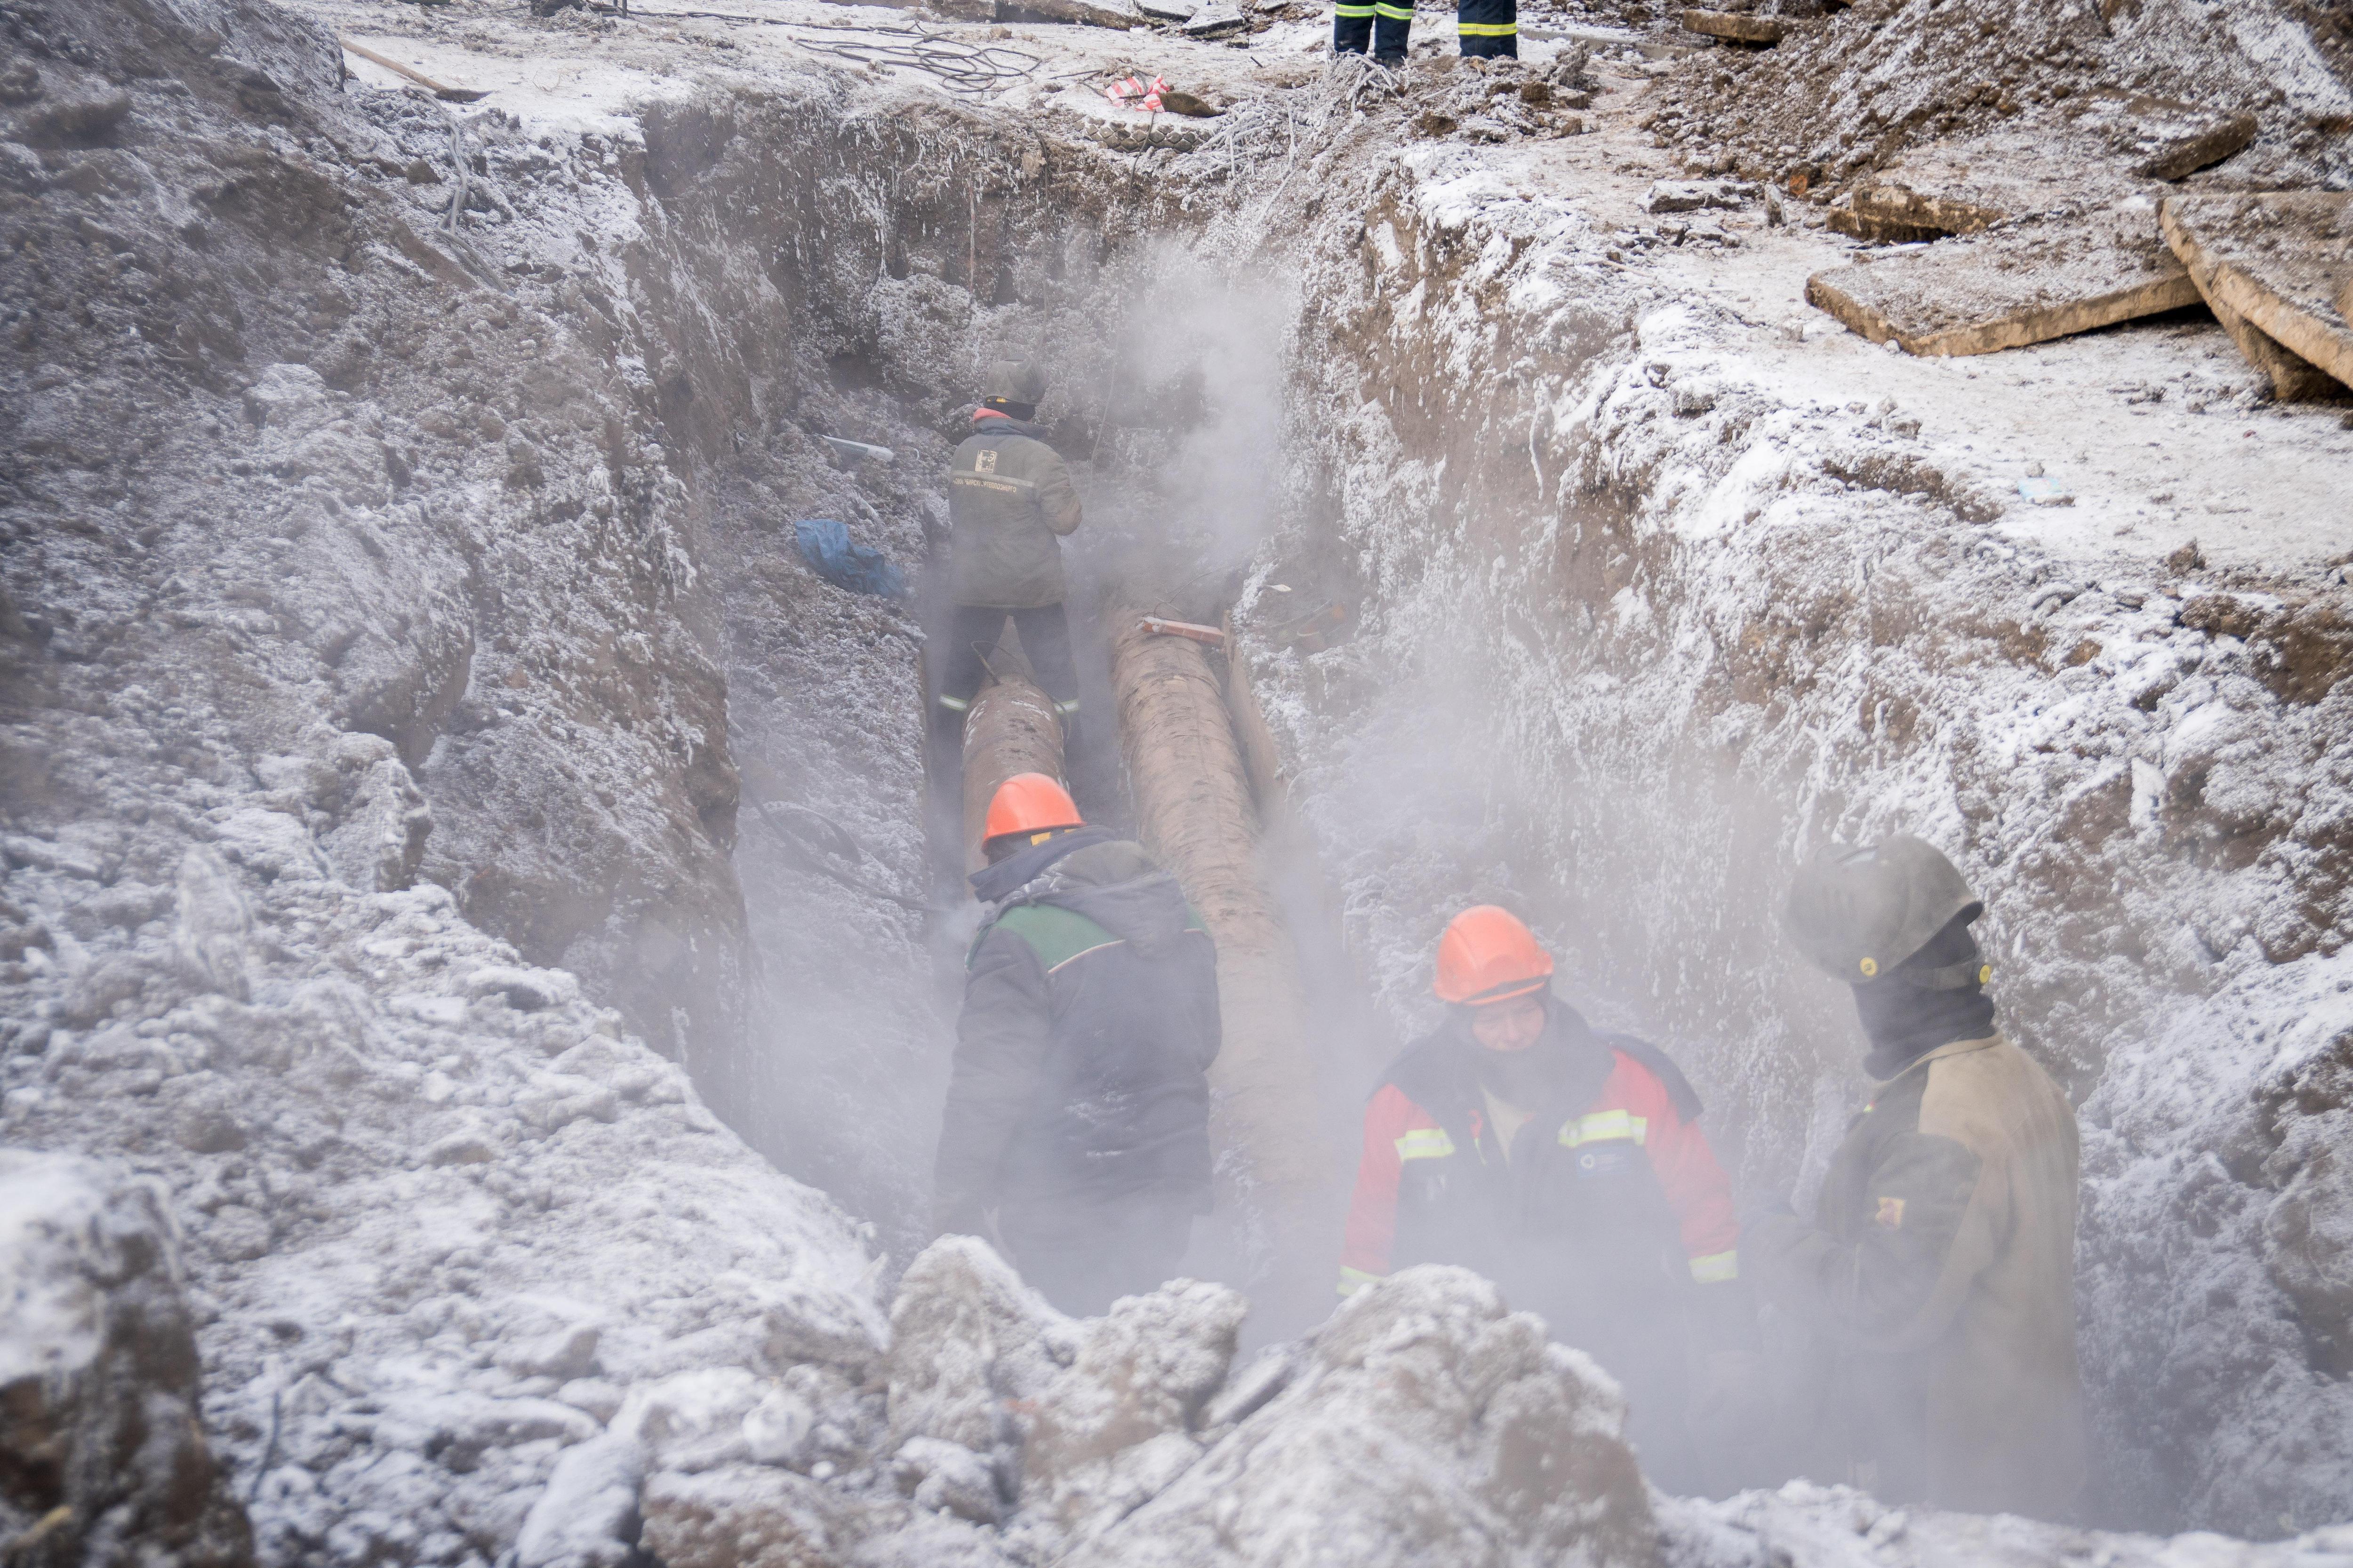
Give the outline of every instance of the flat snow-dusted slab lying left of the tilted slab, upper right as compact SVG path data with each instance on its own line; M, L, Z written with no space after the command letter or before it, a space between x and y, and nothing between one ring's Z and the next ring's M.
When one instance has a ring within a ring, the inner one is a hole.
M1913 355L1984 355L2198 303L2146 202L1814 273L1807 303Z

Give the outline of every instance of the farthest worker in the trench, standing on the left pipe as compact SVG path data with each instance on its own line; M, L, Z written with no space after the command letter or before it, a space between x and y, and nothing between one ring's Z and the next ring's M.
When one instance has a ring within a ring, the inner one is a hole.
M953 733L981 689L988 654L1012 621L1038 686L1054 698L1064 729L1078 717L1078 668L1064 614L1061 536L1078 529L1078 489L1045 444L1038 400L1045 374L1021 360L988 367L972 435L948 468L948 625L939 672L939 724Z

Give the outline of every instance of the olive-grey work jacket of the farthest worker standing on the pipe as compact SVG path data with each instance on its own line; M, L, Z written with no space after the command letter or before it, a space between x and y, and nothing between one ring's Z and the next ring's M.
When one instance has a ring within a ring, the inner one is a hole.
M1078 527L1071 470L1038 425L974 414L948 468L958 604L1038 609L1061 604L1061 538Z

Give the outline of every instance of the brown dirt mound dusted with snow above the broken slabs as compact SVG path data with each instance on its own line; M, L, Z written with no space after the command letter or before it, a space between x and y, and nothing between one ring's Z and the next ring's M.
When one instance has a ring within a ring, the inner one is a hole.
M1821 188L1998 127L2082 141L2087 118L2113 118L2087 101L2144 94L2254 113L2254 146L2200 183L2329 186L2353 179L2346 42L2341 19L2278 0L2228 19L2191 0L1864 0L1788 16L1774 49L1694 56L1664 85L1652 129L1692 162ZM2137 162L2129 141L2106 155Z

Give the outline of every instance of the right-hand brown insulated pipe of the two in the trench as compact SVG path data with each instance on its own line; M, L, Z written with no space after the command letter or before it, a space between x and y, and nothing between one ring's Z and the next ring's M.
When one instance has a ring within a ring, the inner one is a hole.
M1231 1265L1278 1321L1304 1326L1329 1309L1341 1215L1299 961L1259 867L1249 778L1209 651L1139 621L1115 611L1111 686L1144 849L1176 872L1217 940L1224 1048L1209 1131Z

